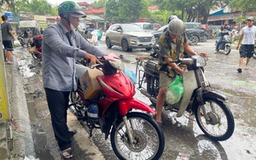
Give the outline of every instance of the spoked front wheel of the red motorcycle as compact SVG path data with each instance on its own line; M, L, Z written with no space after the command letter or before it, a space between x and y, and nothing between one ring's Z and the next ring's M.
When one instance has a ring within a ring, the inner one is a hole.
M152 117L141 112L129 112L126 117L136 142L131 144L125 122L119 118L111 131L111 145L116 156L119 159L159 159L165 147L160 126Z

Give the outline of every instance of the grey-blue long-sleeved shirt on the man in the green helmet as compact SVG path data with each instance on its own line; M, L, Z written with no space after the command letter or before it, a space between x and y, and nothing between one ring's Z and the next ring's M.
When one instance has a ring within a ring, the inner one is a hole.
M102 50L88 43L77 31L71 31L70 45L66 36L67 29L61 21L58 25L48 26L44 30L43 51L43 83L44 88L58 91L72 91L77 89L75 80L76 58L84 58L90 53L96 57L102 56Z

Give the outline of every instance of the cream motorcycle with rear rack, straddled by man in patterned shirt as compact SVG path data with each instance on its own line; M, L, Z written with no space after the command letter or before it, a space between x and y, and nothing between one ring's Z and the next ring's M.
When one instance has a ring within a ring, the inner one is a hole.
M225 104L227 97L212 89L201 69L207 65L205 58L194 55L172 62L188 71L183 74L183 97L174 105L165 104L166 111L176 111L177 117L183 116L185 111L195 114L196 122L209 138L228 140L235 129L234 117ZM158 61L138 58L137 77L138 89L155 106L159 92Z

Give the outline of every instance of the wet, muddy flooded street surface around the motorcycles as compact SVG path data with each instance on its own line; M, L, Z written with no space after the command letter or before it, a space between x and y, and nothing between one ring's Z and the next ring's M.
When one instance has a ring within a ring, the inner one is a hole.
M125 68L136 70L135 58L148 55L144 49L125 53L119 47L107 49L105 43L99 43L99 48L106 53L122 54ZM176 117L176 113L164 111L162 129L166 138L166 148L161 159L256 159L256 75L253 66L256 60L251 60L249 70L236 72L239 60L238 51L233 49L229 55L213 54L214 40L199 43L193 46L197 52L206 52L209 55L205 74L212 87L221 89L230 102L227 104L235 117L235 132L229 140L214 142L207 139L189 114ZM18 59L20 74L26 92L26 101L32 121L33 141L36 146L37 157L40 159L59 159L60 153L52 133L49 111L45 100L42 84L42 64L33 60L27 49L16 49L15 57ZM135 97L150 105L150 101L137 91ZM79 130L73 140L74 155L76 159L90 159L84 154L83 133L86 127L69 115L69 124ZM104 159L117 159L108 140L99 129L93 131L92 140L102 151Z

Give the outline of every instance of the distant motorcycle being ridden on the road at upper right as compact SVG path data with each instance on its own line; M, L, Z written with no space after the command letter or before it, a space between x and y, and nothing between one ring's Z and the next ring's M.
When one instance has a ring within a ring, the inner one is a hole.
M229 32L228 30L224 29L224 33ZM215 42L215 46L218 43L218 38ZM230 35L224 35L222 42L220 43L218 50L223 50L225 55L230 54L231 51L231 43L232 43L232 37Z

